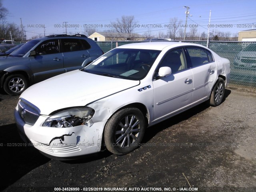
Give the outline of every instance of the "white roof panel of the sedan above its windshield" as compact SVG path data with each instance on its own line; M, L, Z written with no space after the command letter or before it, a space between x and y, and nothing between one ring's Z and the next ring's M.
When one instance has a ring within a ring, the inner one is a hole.
M162 41L162 42L142 42L142 43L131 43L119 46L117 48L128 48L128 49L149 49L149 50L163 50L166 47L175 48L179 46L199 46L206 48L205 46L202 46L200 44L193 44L193 43L185 43L185 42L168 42L168 41Z

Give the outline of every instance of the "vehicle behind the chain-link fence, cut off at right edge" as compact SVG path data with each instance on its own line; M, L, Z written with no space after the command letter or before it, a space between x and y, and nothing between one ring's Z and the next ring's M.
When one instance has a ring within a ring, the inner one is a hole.
M234 67L245 70L256 70L256 44L249 44L236 55Z

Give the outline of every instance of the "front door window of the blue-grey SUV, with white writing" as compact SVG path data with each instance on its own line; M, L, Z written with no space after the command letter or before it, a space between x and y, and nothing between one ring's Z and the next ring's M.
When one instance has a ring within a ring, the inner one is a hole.
M46 54L55 54L60 52L59 40L51 39L42 42L37 46L36 54L37 55L46 55Z

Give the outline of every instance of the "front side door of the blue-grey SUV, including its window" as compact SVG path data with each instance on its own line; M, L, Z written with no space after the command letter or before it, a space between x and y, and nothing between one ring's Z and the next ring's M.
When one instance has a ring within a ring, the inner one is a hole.
M35 83L65 72L58 39L42 42L35 51L36 56L30 57Z

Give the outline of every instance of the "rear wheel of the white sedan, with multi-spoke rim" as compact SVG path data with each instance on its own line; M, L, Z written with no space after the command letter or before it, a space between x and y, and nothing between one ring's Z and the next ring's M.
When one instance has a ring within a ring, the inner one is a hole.
M210 96L210 106L218 106L221 104L225 93L225 82L222 78L219 78L212 89Z

